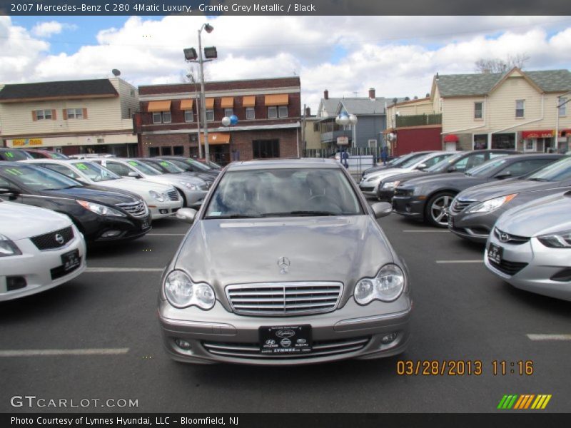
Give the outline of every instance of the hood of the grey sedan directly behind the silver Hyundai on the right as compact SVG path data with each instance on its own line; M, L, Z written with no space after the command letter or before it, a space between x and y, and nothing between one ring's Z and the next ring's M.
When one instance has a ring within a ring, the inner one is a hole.
M458 198L465 200L484 200L499 198L500 196L512 193L527 193L538 190L552 189L560 187L559 181L532 181L532 180L500 180L500 182L485 183L473 188L464 190Z

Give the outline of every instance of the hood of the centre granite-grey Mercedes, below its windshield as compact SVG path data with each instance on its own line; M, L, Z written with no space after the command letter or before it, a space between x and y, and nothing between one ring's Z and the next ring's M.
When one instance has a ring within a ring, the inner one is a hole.
M281 274L278 259L290 260ZM196 282L218 292L251 282L340 281L354 284L394 261L370 215L199 220L176 258ZM351 291L352 292L352 291Z

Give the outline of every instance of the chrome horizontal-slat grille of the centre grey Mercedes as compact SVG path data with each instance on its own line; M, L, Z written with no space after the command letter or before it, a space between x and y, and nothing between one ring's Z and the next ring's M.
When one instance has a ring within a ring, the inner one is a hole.
M228 302L238 315L306 315L335 310L343 293L341 282L268 282L226 287Z

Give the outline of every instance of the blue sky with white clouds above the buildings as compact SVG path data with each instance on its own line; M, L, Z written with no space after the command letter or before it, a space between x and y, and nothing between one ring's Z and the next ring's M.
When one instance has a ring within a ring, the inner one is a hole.
M111 77L178 83L204 16L0 16L0 83ZM293 76L302 103L330 96L425 96L436 72L526 55L527 70L571 68L570 16L218 16L208 80Z

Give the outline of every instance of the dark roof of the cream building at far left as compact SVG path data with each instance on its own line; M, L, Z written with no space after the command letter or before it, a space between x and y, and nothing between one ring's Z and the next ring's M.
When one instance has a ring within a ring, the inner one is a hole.
M21 83L6 85L0 91L0 102L29 99L79 98L118 96L115 87L106 78L84 81Z

